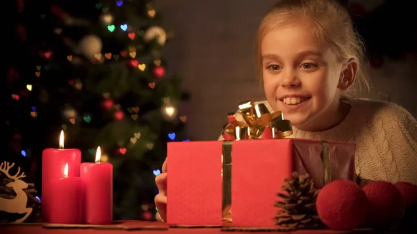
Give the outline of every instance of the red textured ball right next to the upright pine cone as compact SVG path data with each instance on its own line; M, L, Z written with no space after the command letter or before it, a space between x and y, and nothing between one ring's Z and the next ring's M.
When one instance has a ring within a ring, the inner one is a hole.
M349 180L336 180L320 190L318 217L336 231L352 231L365 221L368 201L361 187Z

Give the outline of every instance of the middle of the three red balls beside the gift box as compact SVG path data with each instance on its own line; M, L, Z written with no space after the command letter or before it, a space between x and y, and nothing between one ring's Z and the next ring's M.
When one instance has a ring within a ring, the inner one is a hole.
M405 202L395 185L387 181L372 181L362 190L369 203L367 224L373 228L392 228L400 222L405 212Z

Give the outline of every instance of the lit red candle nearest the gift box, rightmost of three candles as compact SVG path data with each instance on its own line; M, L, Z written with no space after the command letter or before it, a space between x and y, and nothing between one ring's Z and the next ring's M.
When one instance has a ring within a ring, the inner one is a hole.
M111 224L113 222L113 165L101 162L100 147L95 162L81 164L83 181L83 223Z

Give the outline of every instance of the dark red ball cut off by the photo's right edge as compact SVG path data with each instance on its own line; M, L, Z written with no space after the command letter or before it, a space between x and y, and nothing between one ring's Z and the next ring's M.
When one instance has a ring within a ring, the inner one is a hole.
M398 228L401 230L413 230L416 229L416 217L417 217L417 185L407 182L397 182L394 186L402 194L405 202L405 213L400 220Z

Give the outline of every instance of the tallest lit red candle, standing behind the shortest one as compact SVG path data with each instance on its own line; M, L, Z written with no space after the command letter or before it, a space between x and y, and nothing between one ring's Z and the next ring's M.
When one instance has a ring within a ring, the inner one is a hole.
M50 221L50 194L51 181L64 177L64 167L68 163L69 177L80 175L81 151L79 149L64 148L64 131L59 137L60 149L44 149L42 152L42 219L44 222Z

